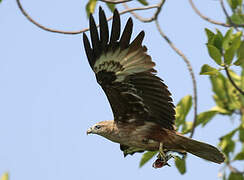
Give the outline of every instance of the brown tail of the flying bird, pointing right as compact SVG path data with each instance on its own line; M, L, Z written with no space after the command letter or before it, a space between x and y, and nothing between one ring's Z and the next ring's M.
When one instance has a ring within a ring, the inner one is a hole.
M176 134L176 136L177 144L180 145L180 149L208 161L219 164L224 162L225 157L223 153L221 153L216 147L185 137L181 134Z

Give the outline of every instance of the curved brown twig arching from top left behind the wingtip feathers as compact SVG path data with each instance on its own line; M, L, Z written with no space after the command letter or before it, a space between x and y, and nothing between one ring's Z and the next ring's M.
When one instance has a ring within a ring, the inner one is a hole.
M16 0L17 5L21 11L21 13L33 24L35 24L37 27L45 30L45 31L49 31L49 32L53 32L53 33L59 33L59 34L69 34L69 35L74 35L74 34L80 34L80 33L84 33L86 31L89 31L89 28L84 28L78 31L61 31L61 30L57 30L57 29L52 29L52 28L48 28L45 27L43 25L41 25L40 23L36 22L33 18L31 18L29 16L29 14L24 10L23 6L20 3L20 0ZM143 6L143 7L138 7L138 8L130 8L130 9L126 9L121 11L119 14L126 14L128 12L132 12L132 11L140 11L140 10L147 10L147 9L154 9L154 8L158 8L158 5L151 5L151 6ZM113 19L113 16L109 17L107 19L107 21L110 21L111 19Z

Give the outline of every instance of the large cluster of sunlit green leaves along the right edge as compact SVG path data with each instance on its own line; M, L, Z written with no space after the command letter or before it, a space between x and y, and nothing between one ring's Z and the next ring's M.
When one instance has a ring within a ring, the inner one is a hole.
M238 3L242 1L228 1L235 14ZM238 11L239 12L239 11ZM205 29L208 42L206 44L209 56L215 62L216 67L204 64L201 68L201 75L209 75L212 85L213 99L216 104L212 109L198 115L198 123L207 124L215 115L225 115L230 118L234 115L239 117L239 125L226 135L220 137L219 148L225 154L228 165L235 161L244 160L244 41L242 31L234 32L230 28L224 35L217 29L216 33ZM235 68L231 70L230 67ZM225 70L227 76L222 74ZM236 87L239 87L238 89ZM207 118L199 116L205 115ZM210 117L210 118L209 118ZM237 144L242 146L237 150ZM243 173L231 170L223 179L235 180L244 179Z

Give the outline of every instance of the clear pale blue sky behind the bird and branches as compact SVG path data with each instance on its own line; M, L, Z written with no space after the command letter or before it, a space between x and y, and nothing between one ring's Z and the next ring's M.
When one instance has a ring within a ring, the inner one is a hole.
M21 1L39 23L60 30L88 26L87 1ZM104 7L103 3L99 3ZM209 17L225 21L218 1L196 1ZM106 10L107 16L111 12ZM119 9L122 9L121 7ZM97 19L97 9L95 17ZM149 16L149 11L140 13ZM131 15L123 15L122 24ZM134 19L133 37L144 30L144 44L156 62L158 75L172 93L174 103L192 94L190 75L183 60L168 46L154 23ZM203 64L214 65L205 47L204 28L217 26L198 17L188 1L167 1L159 22L164 32L192 63L197 79L199 112L214 106ZM217 27L221 31L226 31ZM193 119L193 112L187 117ZM153 160L139 168L141 154L123 157L119 145L86 130L113 115L104 92L96 83L82 44L82 36L46 32L31 24L14 0L0 4L0 174L10 180L93 179L218 179L223 167L187 157L187 173L172 167L152 168ZM234 128L228 118L217 116L194 138L218 144L218 138Z

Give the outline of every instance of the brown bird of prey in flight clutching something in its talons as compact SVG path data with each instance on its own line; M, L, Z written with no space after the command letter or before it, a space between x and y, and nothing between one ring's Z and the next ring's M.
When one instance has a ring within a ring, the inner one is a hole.
M108 98L114 120L96 123L87 134L97 134L119 143L124 156L159 151L155 167L167 164L169 151L189 152L222 163L224 156L216 147L176 132L171 93L163 80L156 76L155 63L147 54L146 46L142 45L144 31L130 42L133 22L129 18L120 35L120 15L115 9L109 35L101 7L99 32L92 15L89 24L91 44L83 34L87 59Z

